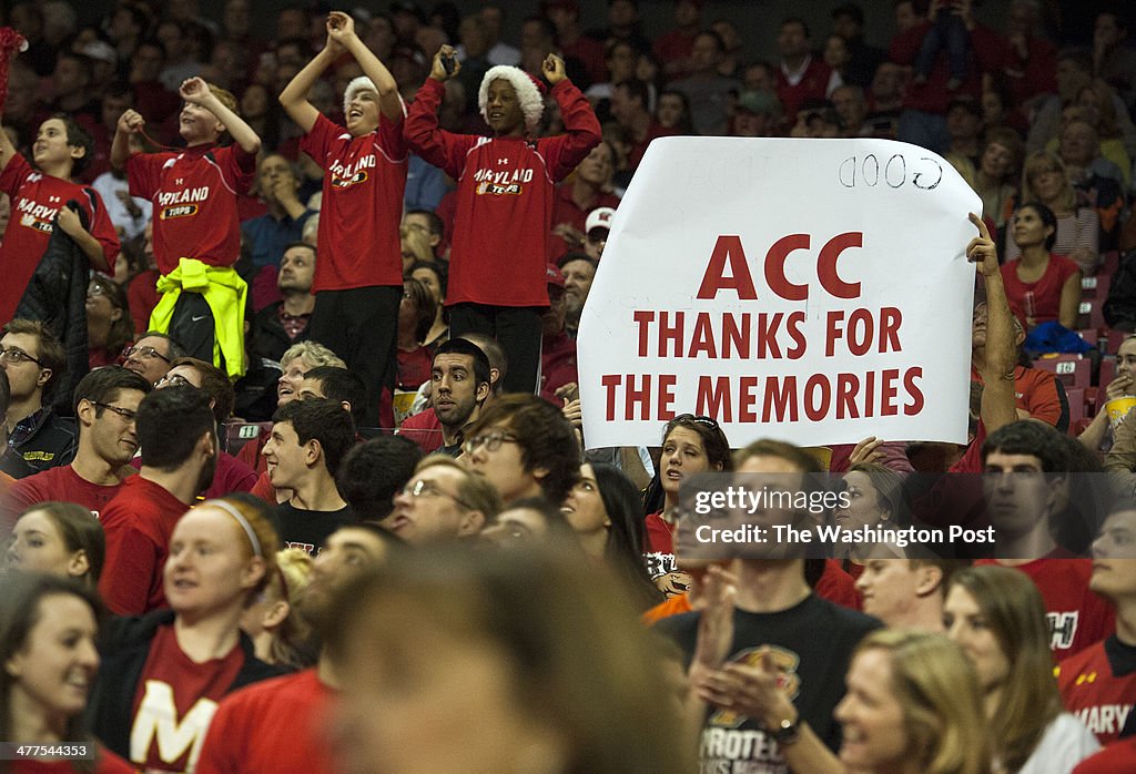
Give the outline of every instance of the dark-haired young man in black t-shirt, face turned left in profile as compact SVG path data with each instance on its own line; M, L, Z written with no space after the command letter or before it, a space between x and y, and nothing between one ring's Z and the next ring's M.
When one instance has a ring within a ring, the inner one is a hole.
M281 540L315 555L332 532L356 521L335 486L340 462L354 444L354 422L335 401L292 401L273 414L265 444L268 478L292 490L277 506Z

